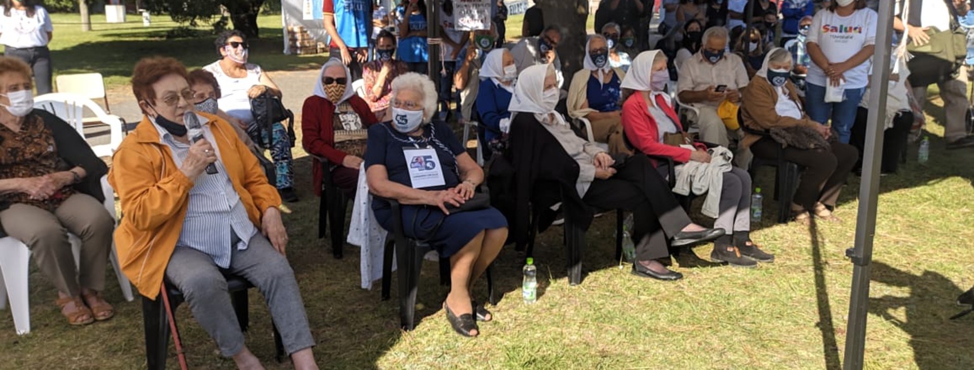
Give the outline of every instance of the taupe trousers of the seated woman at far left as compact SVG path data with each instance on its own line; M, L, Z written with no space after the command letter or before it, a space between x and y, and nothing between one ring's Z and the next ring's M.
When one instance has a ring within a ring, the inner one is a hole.
M0 223L8 235L30 248L37 267L57 291L77 297L81 288L104 290L115 220L92 196L75 193L57 206L54 213L14 203L0 211ZM77 268L67 233L81 239Z

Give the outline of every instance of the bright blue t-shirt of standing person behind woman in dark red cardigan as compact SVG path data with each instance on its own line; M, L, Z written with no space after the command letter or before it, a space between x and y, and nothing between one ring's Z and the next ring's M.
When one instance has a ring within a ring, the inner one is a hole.
M372 2L369 0L324 0L322 13L334 15L335 29L349 48L368 48L372 33ZM332 48L338 48L331 41Z

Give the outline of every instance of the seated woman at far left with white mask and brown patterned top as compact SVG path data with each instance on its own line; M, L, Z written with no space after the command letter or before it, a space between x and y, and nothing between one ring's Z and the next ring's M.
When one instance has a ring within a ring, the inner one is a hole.
M101 202L108 170L78 131L34 109L30 67L0 56L0 224L30 248L71 325L114 314L101 298L115 220ZM81 238L75 268L67 233Z

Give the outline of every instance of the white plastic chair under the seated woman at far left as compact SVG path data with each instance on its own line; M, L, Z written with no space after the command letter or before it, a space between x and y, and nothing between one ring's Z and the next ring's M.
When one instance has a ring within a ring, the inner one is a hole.
M101 189L105 193L105 209L115 218L115 192L108 185L108 178L101 177ZM81 239L77 236L68 234L71 241L71 251L74 253L75 266L79 263L81 255ZM115 269L115 276L119 279L122 287L122 295L126 301L131 302L134 297L131 293L131 283L129 278L122 274L119 269L119 258L115 251L115 244L112 243L112 250L109 254L112 267ZM17 334L27 334L30 332L30 305L29 291L27 289L28 270L30 263L30 249L20 240L13 237L0 238L0 310L7 306L7 296L10 295L11 311L14 314L14 328Z

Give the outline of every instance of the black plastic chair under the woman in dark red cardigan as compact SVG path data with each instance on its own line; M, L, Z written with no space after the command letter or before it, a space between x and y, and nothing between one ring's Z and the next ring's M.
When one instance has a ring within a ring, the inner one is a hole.
M328 223L331 223L331 252L335 259L344 256L345 247L345 213L349 206L349 197L342 189L335 186L331 180L331 165L324 157L314 154L309 156L321 164L321 196L318 197L318 239L324 238Z

